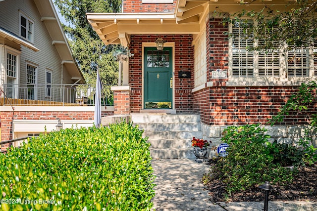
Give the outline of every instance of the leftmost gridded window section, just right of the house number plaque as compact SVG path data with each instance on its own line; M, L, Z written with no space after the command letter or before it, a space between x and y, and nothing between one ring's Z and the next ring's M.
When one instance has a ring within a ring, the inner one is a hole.
M232 77L254 76L254 51L247 51L246 47L253 46L253 38L245 38L242 24L253 24L252 20L236 21L232 24Z

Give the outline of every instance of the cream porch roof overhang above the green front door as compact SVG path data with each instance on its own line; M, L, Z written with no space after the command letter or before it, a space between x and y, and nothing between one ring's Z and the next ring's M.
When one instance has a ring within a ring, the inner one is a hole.
M130 35L200 32L197 22L177 24L174 13L87 13L87 19L105 44L127 46Z

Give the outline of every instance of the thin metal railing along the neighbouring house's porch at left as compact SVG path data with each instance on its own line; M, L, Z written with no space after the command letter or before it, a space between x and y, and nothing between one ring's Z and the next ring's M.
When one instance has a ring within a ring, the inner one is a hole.
M103 85L102 106L113 105L111 85ZM0 105L16 106L93 106L95 85L80 84L3 84Z

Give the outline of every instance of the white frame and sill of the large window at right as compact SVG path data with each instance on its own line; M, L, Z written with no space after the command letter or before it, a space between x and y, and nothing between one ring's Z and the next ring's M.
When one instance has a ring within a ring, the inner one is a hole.
M229 24L229 32L232 33L232 24ZM254 46L258 44L258 40L254 40ZM233 77L233 39L229 39L229 77L227 85L300 85L306 83L309 80L316 80L317 74L314 75L314 59L308 57L307 62L308 76L307 77L288 77L288 52L285 50L287 46L283 46L279 54L279 76L259 76L259 53L253 52L254 65L253 65L253 77ZM283 55L284 52L284 55ZM310 50L310 55L313 53L313 48Z

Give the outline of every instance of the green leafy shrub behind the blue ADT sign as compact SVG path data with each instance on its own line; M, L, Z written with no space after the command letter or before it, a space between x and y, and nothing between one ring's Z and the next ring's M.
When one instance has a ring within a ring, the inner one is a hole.
M274 164L265 154L268 135L259 125L227 127L221 140L229 145L228 155L219 157L213 167L211 178L221 178L227 184L227 191L246 190L270 181L291 181L293 171Z

